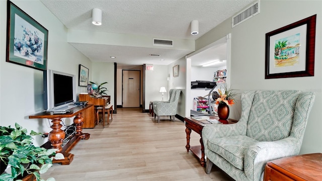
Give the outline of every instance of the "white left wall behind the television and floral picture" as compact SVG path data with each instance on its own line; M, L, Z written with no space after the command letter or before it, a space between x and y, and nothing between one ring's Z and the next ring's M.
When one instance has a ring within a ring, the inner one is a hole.
M90 69L92 65L87 57L66 42L66 28L40 1L12 2L48 30L47 68L74 74L78 82L78 64ZM5 61L7 1L0 1L0 12L0 125L14 126L17 122L29 132L49 132L48 120L28 119L29 115L43 110L42 71ZM80 92L86 92L86 87L76 86L76 93ZM66 119L67 124L70 122ZM37 137L35 145L46 141Z

